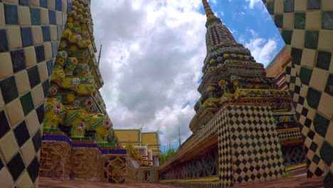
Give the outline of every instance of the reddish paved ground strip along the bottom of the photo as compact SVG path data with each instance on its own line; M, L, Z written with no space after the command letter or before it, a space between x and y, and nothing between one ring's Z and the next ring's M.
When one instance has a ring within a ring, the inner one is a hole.
M267 182L257 182L252 184L236 185L235 188L324 188L322 183L323 177L307 178L301 177L282 177ZM96 182L85 182L80 180L62 180L48 177L40 177L39 187L41 188L80 188L80 187L97 187L97 188L176 188L183 187L170 184L107 184ZM187 186L189 187L189 186Z

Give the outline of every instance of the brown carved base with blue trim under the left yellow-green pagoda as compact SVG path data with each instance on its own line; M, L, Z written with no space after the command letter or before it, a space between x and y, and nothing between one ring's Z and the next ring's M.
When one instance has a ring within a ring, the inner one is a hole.
M70 140L63 132L44 132L40 174L90 182L136 182L136 169L128 159L127 151L117 147L100 147L94 140ZM152 179L157 179L157 169L152 170Z

